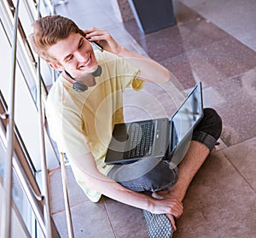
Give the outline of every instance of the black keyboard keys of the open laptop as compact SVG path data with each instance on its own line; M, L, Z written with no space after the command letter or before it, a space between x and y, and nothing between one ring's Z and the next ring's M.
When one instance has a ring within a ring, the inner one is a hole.
M154 122L132 123L129 129L130 139L126 145L124 159L138 158L152 153L154 140Z

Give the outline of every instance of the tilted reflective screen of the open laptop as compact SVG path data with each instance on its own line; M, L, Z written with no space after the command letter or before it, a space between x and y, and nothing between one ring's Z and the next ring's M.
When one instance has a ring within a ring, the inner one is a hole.
M181 142L191 134L202 115L201 83L199 83L172 116L172 150L177 146L178 142Z

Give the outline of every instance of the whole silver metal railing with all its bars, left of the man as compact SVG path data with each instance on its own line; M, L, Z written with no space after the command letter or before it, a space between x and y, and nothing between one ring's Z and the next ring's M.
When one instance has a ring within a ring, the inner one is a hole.
M48 1L49 2L49 1ZM40 58L38 57L37 62L37 78L38 78L38 121L40 126L40 158L41 166L42 166L42 181L43 181L43 194L37 194L32 188L30 181L26 177L26 171L23 170L22 166L20 166L20 160L18 160L14 156L14 136L15 136L15 122L14 122L14 108L15 108L15 68L16 68L16 49L17 49L17 32L19 27L19 5L20 1L17 0L15 12L15 24L14 24L14 34L13 34L13 44L12 44L12 80L10 86L10 100L9 100L9 112L1 114L1 119L7 119L8 128L7 128L7 142L8 142L8 160L5 164L5 172L4 175L6 179L3 181L3 185L5 188L6 198L5 198L5 211L3 212L2 217L2 234L4 237L10 237L10 228L11 228L11 188L12 188L12 166L15 169L16 174L19 177L21 187L26 193L27 199L29 200L32 210L37 218L37 221L46 237L52 237L52 228L51 228L51 218L49 212L49 194L48 194L48 171L46 166L46 156L45 156L45 144L44 144L44 109L42 107L42 78L40 74ZM38 0L37 8L38 8L38 17L39 17L39 6L40 0ZM51 15L54 15L53 6L49 4L49 9ZM55 81L55 78L53 78ZM62 154L63 156L63 154ZM67 229L69 237L73 237L73 223L71 218L69 200L68 200L68 191L67 191L67 174L65 171L65 161L64 156L61 157L61 177L63 184L63 194L65 200L65 210L67 215ZM42 211L42 206L38 203L37 200L44 201L43 208L44 213ZM54 230L55 231L55 230Z

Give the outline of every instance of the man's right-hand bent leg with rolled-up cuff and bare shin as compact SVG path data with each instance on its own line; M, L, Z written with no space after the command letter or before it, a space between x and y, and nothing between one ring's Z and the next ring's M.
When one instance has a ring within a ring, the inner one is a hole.
M204 118L195 127L192 140L182 162L178 165L177 183L167 190L153 193L154 198L171 196L182 201L189 184L214 148L222 131L222 120L212 108L204 109Z

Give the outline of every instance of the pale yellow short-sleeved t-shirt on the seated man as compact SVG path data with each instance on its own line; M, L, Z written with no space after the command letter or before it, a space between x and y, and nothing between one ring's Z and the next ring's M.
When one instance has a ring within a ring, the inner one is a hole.
M66 153L74 177L90 200L100 200L100 193L86 187L83 171L74 163L76 156L91 152L96 166L108 175L111 165L104 163L113 125L124 121L123 90L140 90L144 82L137 79L139 70L125 59L108 52L96 51L102 74L96 85L84 92L73 90L73 84L59 77L46 103L49 131L60 152Z

